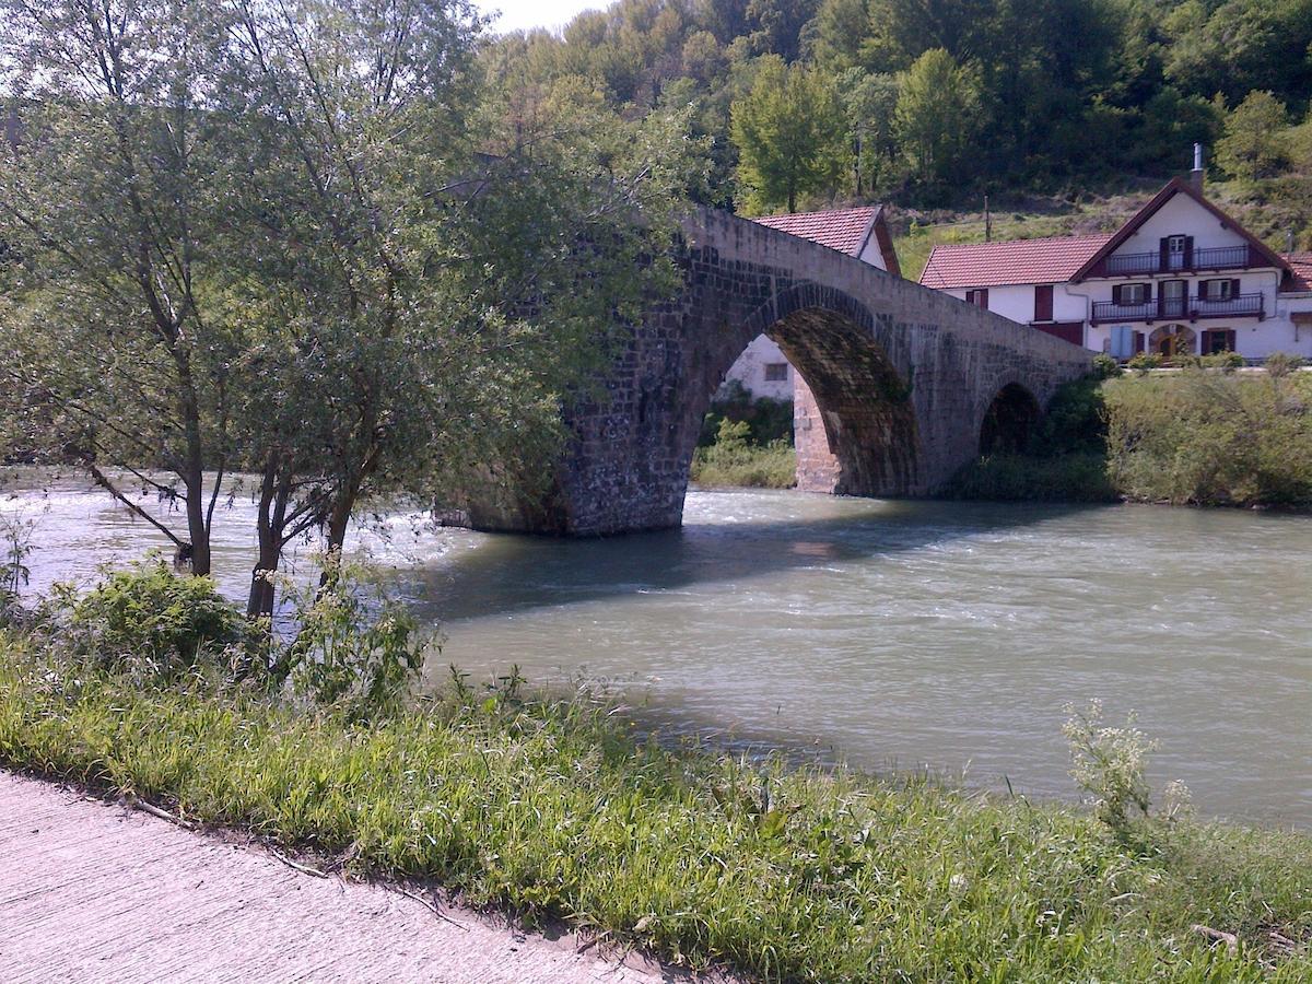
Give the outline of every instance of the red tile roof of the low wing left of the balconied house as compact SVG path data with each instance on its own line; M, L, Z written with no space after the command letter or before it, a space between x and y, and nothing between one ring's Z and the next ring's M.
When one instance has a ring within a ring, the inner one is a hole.
M1063 283L1110 239L1111 234L1098 234L937 245L920 282L935 290Z

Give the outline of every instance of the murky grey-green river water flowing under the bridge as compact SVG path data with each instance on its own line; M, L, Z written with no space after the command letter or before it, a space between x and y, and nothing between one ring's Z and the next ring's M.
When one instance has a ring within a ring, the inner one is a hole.
M39 480L38 480L39 479ZM33 590L160 538L75 480L17 472ZM249 504L215 567L244 597ZM451 661L622 684L670 729L1072 796L1063 705L1139 712L1155 785L1312 825L1312 518L693 492L685 526L605 541L391 523L377 559Z

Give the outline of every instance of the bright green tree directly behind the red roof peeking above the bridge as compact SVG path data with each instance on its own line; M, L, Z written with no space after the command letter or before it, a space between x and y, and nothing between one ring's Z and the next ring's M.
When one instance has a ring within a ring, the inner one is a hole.
M833 80L775 55L761 59L750 91L733 104L731 133L753 210L796 211L799 195L834 188L848 155Z

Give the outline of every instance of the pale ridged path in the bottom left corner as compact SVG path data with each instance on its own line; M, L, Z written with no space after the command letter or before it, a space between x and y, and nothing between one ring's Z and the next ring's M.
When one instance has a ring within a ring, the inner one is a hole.
M0 770L0 980L670 980Z

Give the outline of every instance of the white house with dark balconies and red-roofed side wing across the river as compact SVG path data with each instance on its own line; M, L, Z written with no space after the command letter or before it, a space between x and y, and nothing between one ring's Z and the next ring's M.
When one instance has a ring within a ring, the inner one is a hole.
M1117 232L939 245L920 282L1067 341L1312 356L1312 256L1281 256L1176 178Z

